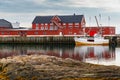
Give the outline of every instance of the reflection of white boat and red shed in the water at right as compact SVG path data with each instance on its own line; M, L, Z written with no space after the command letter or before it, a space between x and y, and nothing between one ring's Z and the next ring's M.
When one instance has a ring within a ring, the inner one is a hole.
M109 46L80 46L75 48L75 53L82 56L83 62L103 64L115 61L115 49Z

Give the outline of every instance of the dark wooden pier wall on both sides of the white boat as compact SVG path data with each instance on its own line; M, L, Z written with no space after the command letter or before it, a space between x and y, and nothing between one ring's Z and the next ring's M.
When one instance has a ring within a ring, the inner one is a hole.
M105 36L110 46L120 46L120 35ZM0 44L69 44L75 45L74 36L0 37Z

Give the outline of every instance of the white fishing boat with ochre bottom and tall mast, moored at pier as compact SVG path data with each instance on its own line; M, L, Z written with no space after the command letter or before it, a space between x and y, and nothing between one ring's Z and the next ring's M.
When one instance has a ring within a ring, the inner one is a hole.
M98 20L97 17L95 16L96 22L97 22L97 26L99 29L99 32L94 34L94 36L89 36L89 37L75 37L75 44L76 46L79 45L108 45L109 44L109 39L104 39L104 37L102 37L102 28L99 26L98 24ZM85 33L85 28L83 30L83 33Z

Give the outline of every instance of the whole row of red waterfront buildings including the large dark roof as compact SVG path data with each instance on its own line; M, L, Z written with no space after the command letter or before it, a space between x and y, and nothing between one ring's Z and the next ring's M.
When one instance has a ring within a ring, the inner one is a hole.
M1 23L2 24L2 23ZM101 32L103 36L115 35L115 27L86 27L84 15L36 16L32 29L10 29L8 25L0 27L0 37L41 37L41 36L94 36Z

